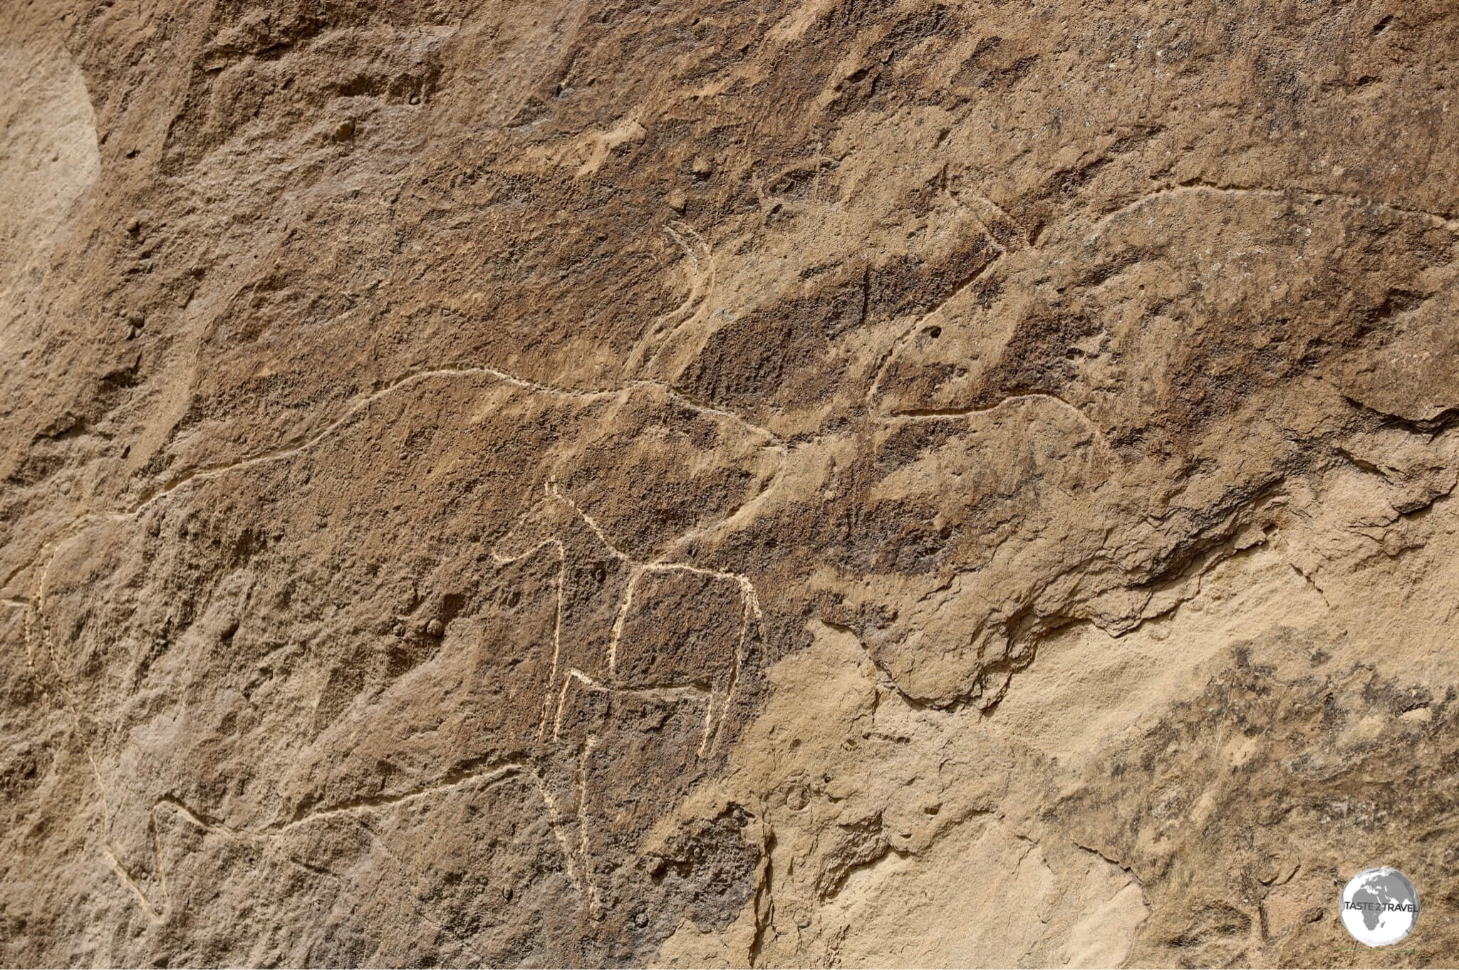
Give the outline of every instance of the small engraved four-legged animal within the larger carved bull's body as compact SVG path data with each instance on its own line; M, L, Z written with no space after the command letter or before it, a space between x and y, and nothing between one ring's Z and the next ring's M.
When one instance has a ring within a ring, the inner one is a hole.
M557 627L540 734L562 741L594 705L582 693L697 694L699 753L713 745L747 637L760 618L750 581L678 563L635 562L553 483L493 551L512 562L552 546L560 557ZM578 731L576 734L582 734ZM591 729L589 729L591 734Z

